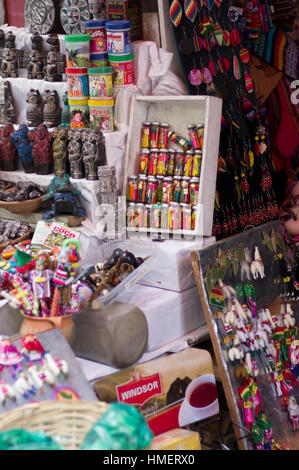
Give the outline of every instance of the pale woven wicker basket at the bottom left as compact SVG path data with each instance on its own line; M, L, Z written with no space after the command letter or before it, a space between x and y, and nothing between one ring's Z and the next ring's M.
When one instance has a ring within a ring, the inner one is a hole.
M109 405L104 402L43 401L0 414L0 432L11 429L42 431L66 450L78 450Z

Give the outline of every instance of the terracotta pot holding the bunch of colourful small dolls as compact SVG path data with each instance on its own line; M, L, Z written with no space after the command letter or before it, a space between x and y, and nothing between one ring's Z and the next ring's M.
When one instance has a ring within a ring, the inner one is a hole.
M26 335L29 333L37 334L43 333L44 331L54 330L60 328L65 339L71 344L75 339L75 325L72 320L72 315L66 315L64 317L29 317L23 315L24 320L21 324L20 334Z

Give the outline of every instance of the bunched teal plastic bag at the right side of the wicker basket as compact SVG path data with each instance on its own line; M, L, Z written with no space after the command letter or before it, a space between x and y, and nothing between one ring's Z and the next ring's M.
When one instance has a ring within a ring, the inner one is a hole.
M141 450L153 435L134 406L112 403L87 433L81 450Z

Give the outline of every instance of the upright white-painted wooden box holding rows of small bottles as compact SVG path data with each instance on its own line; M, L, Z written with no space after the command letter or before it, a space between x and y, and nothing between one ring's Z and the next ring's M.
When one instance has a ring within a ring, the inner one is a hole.
M140 134L144 121L167 122L177 134L188 137L188 125L204 124L204 147L195 230L174 230L184 237L211 236L221 130L222 100L212 96L136 96L132 98L125 157L124 188L128 176L138 174ZM127 227L127 231L163 233L165 229ZM166 232L169 232L166 230Z

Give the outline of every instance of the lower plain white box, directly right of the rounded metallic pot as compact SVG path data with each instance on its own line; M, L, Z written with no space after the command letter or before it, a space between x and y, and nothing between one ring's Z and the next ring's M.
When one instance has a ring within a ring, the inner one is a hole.
M206 323L197 287L179 293L139 285L123 292L117 300L136 305L144 313L148 324L147 352Z

